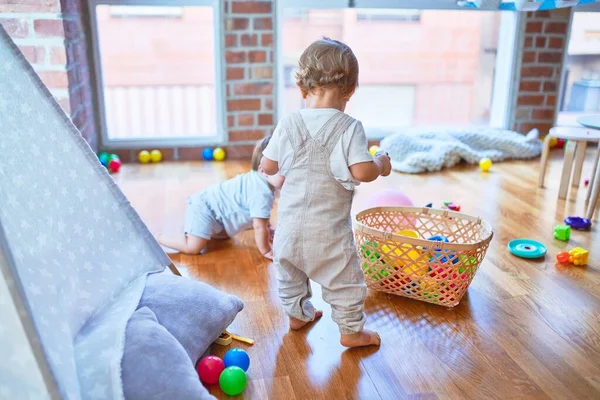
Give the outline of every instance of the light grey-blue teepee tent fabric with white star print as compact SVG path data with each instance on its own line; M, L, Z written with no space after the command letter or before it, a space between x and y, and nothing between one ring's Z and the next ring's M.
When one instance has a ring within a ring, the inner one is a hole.
M123 398L127 321L170 260L1 27L0 60L0 398Z

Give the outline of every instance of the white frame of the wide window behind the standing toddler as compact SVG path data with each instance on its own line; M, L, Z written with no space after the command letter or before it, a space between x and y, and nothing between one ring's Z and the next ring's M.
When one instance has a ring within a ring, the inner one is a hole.
M353 5L349 7L349 4ZM280 0L277 2L276 29L279 33L275 38L275 62L276 62L276 87L277 87L277 113L283 115L284 107L284 61L283 61L283 15L284 8L299 9L344 9L344 8L408 8L418 10L462 10L470 12L498 11L502 13L513 13L514 18L510 21L512 29L509 37L502 37L498 43L498 53L501 47L504 55L509 57L496 57L496 71L498 65L506 69L505 73L496 72L490 99L490 122L491 128L511 129L514 118L514 105L518 95L518 78L520 69L520 58L522 55L522 43L524 40L524 29L522 27L524 18L522 13L514 11L502 11L489 8L468 8L457 5L456 0ZM502 26L501 26L502 30ZM373 137L369 140L380 140L383 137Z

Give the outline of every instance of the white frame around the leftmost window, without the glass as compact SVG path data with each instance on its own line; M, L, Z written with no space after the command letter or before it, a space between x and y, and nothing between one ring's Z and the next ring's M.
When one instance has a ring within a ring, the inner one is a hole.
M92 58L93 58L93 86L98 107L97 122L100 126L100 146L103 149L132 149L143 147L196 147L204 145L224 144L227 142L227 134L225 132L225 104L226 99L225 76L223 62L223 21L221 2L219 0L88 0L89 7L89 22L91 31ZM100 42L98 32L98 20L96 7L99 5L107 6L169 6L169 7L186 7L186 6L210 6L213 8L214 20L214 54L215 54L215 110L216 110L216 132L210 136L192 136L192 137L153 137L153 138L132 138L132 139L114 139L108 135L108 123L106 115L106 107L104 102L104 79L102 75L102 57L100 54Z

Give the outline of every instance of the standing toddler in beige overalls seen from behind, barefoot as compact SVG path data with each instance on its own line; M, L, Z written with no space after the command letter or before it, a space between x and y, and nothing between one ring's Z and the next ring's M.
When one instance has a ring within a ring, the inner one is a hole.
M350 47L323 38L300 57L297 84L306 109L283 119L263 152L261 170L285 176L277 212L274 261L291 329L319 318L310 281L331 305L342 345L379 345L363 329L367 294L352 233L354 187L390 174L387 155L371 157L362 124L344 113L358 86Z

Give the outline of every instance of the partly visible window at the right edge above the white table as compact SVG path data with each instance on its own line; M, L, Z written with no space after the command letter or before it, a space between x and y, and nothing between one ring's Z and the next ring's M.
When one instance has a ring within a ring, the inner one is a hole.
M577 118L600 112L599 18L598 12L573 14L559 103L559 125L578 125Z

